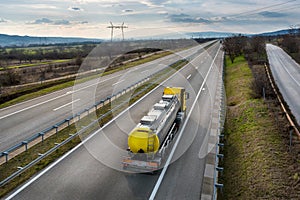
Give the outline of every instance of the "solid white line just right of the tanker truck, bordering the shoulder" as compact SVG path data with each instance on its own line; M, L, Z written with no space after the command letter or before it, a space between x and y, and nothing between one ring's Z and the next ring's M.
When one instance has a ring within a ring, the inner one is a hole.
M169 157L168 157L168 160L167 160L167 162L166 162L166 164L165 164L165 166L164 166L164 168L163 168L161 174L159 175L159 178L158 178L158 180L157 180L157 182L156 182L156 184L155 184L155 186L154 186L154 188L153 188L153 190L152 190L152 193L151 193L151 195L150 195L150 197L149 197L149 200L154 200L154 197L155 197L156 193L158 192L159 186L160 186L160 184L162 183L162 180L163 180L163 178L164 178L164 176L165 176L165 173L166 173L166 171L167 171L167 169L168 169L168 167L169 167L169 165L170 165L170 162L171 162L171 159L172 159L172 157L173 157L173 155L174 155L175 149L177 148L177 145L178 145L178 143L179 143L179 141L180 141L180 138L181 138L181 136L182 136L182 134L183 134L183 131L184 131L186 125L187 125L187 122L189 121L189 118L191 117L191 114L192 114L192 111L193 111L193 109L194 109L194 107L195 107L195 105L196 105L197 99L199 98L199 96L200 96L200 94L201 94L201 91L202 91L202 89L203 89L203 87L204 87L204 84L205 84L205 82L206 82L206 80L207 80L207 78L208 78L208 75L209 75L209 73L210 73L210 71L211 71L211 69L212 69L212 67L213 67L213 65L214 65L215 59L216 59L217 55L219 54L219 51L220 51L220 47L219 47L219 49L218 49L218 51L217 51L217 54L216 54L215 58L213 59L211 65L210 65L210 68L209 68L209 70L208 70L208 72L207 72L207 74L206 74L206 76L205 76L205 78L204 78L204 80L203 80L203 83L202 83L202 85L201 85L201 87L200 87L200 89L199 89L199 92L198 92L198 94L197 94L197 96L196 96L196 98L195 98L195 101L193 102L193 105L192 105L192 107L191 107L191 109L190 109L190 112L189 112L189 114L188 114L186 120L184 121L184 124L183 124L183 126L182 126L182 129L181 129L179 135L178 135L178 138L177 138L177 140L176 140L176 142L175 142L175 144L174 144L174 146L173 146L173 148L172 148L172 150L171 150L171 153L170 153L170 155L169 155Z

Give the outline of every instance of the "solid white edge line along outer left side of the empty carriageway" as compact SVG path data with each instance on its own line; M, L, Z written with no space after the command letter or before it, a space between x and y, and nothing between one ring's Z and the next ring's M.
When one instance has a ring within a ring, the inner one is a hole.
M18 114L18 113L20 113L20 112L23 112L23 111L25 111L25 110L29 110L29 109L31 109L31 108L34 108L34 107L37 107L37 106L43 105L43 104L45 104L45 103L48 103L48 102L50 102L50 101L53 101L53 100L59 99L59 98L61 98L61 97L64 97L64 96L70 95L70 94L72 94L72 93L74 93L74 92L78 92L78 91L80 91L80 90L83 90L83 89L86 89L86 88L88 88L88 87L91 87L91 86L97 85L97 84L99 84L99 83L102 83L102 82L108 81L108 80L110 80L110 79L116 78L116 77L118 77L118 76L121 76L121 75L122 75L122 74L120 74L120 75L117 75L117 76L113 76L113 77L111 77L111 78L108 78L108 79L105 79L105 80L103 80L103 81L100 81L100 82L97 82L97 83L94 83L94 84L91 84L91 85L88 85L88 86L85 86L85 87L79 88L78 90L72 90L72 91L66 92L66 93L65 93L65 94L63 94L63 95L60 95L60 96L54 97L54 98L52 98L52 99L48 99L48 100L46 100L46 101L43 101L43 102L40 102L40 103L34 104L34 105L32 105L32 106L29 106L29 107L23 108L23 109L21 109L21 110L17 110L17 111L15 111L15 112L12 112L12 113L9 113L9 114L7 114L7 115L4 115L4 116L0 117L0 120L1 120L1 119L4 119L4 118L6 118L6 117L12 116L12 115L14 115L14 114Z

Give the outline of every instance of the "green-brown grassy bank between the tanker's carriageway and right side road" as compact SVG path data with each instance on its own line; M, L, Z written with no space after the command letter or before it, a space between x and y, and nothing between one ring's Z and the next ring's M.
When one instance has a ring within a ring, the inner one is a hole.
M247 62L226 58L223 192L218 199L297 199L293 157L268 105L253 98L253 76ZM298 194L297 194L298 193Z

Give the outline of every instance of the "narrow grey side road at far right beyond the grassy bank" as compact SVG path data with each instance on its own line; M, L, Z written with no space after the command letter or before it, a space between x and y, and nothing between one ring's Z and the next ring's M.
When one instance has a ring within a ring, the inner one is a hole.
M276 85L300 124L300 65L281 48L271 44L266 48Z

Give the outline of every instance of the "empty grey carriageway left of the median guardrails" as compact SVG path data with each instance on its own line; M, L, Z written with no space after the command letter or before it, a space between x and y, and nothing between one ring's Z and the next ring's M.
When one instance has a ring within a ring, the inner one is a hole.
M76 84L74 87L1 109L0 151L75 115L96 101L106 98L113 92L123 90L179 59L203 51L203 47L208 44L197 45L131 69Z

